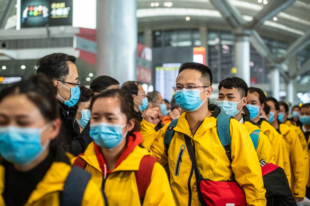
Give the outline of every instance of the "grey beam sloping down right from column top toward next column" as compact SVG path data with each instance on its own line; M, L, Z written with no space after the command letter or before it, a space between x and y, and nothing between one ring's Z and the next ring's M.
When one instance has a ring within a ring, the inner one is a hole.
M259 52L259 54L266 59L267 63L270 65L275 65L275 58L268 49L267 45L263 41L263 39L259 36L259 34L253 30L252 36L250 37L250 43L254 46L254 48Z

